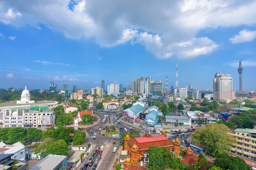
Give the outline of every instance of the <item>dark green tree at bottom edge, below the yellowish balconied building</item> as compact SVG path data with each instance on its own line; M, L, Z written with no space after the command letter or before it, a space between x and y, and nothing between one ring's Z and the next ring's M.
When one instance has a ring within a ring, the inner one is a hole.
M218 154L215 159L215 166L220 167L222 170L250 170L250 166L239 158L229 156L227 153Z

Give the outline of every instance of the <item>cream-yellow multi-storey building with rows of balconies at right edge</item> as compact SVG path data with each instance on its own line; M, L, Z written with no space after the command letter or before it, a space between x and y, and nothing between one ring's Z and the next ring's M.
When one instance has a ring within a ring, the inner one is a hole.
M237 139L237 144L231 148L231 153L256 160L256 130L236 129L230 133Z

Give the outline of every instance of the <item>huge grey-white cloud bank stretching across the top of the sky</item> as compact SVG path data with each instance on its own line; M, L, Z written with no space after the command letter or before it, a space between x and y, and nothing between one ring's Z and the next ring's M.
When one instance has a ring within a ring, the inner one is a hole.
M136 42L160 59L188 59L217 50L214 40L197 37L206 28L256 24L255 0L77 0L72 10L68 5L70 0L8 0L0 2L0 21L44 25L69 39L90 38L101 47Z

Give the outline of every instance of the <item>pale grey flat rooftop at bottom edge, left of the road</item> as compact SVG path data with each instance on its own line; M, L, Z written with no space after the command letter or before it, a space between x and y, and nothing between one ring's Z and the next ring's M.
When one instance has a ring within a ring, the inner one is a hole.
M65 159L67 159L67 156L48 155L29 170L54 170L54 168Z

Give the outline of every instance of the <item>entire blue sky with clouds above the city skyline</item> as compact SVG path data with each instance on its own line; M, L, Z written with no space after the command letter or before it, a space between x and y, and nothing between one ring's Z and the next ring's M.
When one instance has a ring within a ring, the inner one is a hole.
M118 2L0 2L0 88L166 76L170 88L177 63L180 87L212 89L221 69L239 89L242 59L244 89L256 90L256 1Z

